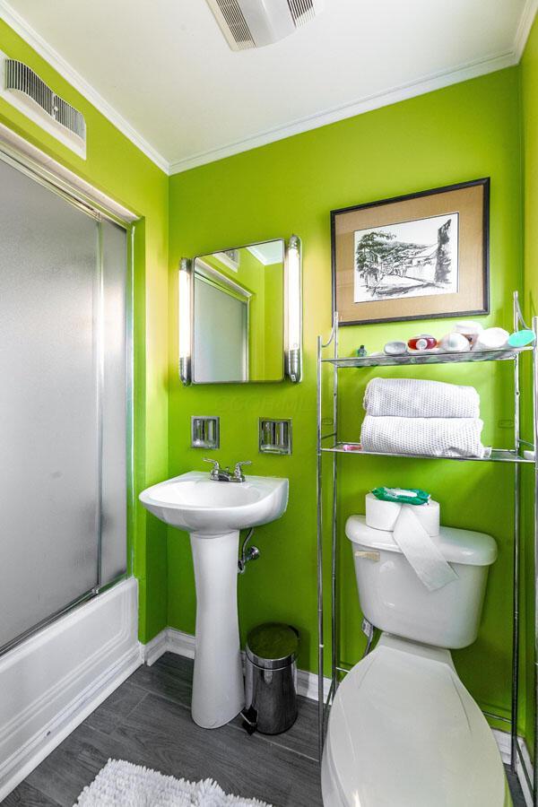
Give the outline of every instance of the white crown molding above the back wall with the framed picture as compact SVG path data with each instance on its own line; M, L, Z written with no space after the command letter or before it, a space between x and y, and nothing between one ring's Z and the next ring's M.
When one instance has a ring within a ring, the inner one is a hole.
M538 0L530 0L530 2L537 3ZM208 162L223 160L234 154L248 152L251 149L256 149L258 146L274 143L277 140L283 140L285 137L292 137L294 134L302 134L311 129L317 129L320 126L327 126L328 124L344 120L347 117L355 117L364 112L370 112L372 109L386 107L389 104L408 100L415 96L423 95L426 92L440 90L443 87L448 87L450 84L464 82L468 79L477 78L480 75L493 73L495 70L501 70L503 67L515 65L516 62L517 59L514 50L508 50L494 56L488 56L484 59L460 65L456 67L455 70L431 74L415 82L400 84L389 90L355 100L351 104L346 104L343 107L325 109L322 112L318 112L316 115L302 117L290 124L254 134L252 137L247 137L245 140L239 140L236 143L228 143L218 149L199 152L193 154L191 157L172 161L169 166L169 174L179 174Z

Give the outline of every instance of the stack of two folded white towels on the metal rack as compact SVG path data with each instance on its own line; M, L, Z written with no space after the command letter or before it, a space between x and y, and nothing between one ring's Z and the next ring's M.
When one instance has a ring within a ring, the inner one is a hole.
M472 386L414 378L373 378L360 431L365 451L428 456L489 456L482 446L480 398Z

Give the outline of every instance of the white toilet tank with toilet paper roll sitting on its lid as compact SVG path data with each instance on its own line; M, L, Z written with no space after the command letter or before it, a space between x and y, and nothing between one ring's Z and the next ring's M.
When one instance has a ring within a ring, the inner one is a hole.
M488 570L497 558L490 535L441 527L431 541L456 571L457 579L429 591L395 543L364 516L350 516L360 608L376 628L426 645L466 647L478 634Z

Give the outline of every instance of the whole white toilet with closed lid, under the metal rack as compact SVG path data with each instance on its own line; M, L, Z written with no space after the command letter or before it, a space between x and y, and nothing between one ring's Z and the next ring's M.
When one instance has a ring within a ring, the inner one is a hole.
M497 743L459 680L448 648L472 644L490 535L441 527L438 543L458 579L430 592L392 533L351 516L360 607L383 631L339 686L322 761L325 807L505 807Z

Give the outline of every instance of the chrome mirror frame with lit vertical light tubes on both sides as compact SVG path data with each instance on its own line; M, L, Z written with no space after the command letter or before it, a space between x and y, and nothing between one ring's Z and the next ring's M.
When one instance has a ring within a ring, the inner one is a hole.
M266 239L244 244L231 249L254 247L257 244L267 244L271 241L282 240L284 245L284 376L293 384L302 379L302 244L299 236L292 235L290 239ZM230 249L217 249L215 252L229 252ZM205 255L213 253L205 253ZM178 278L178 343L179 343L179 377L183 386L190 386L192 380L192 351L194 344L194 271L195 261L203 259L204 255L194 258L181 258L179 262ZM207 382L212 383L212 382ZM258 382L230 381L214 382L220 384L248 384ZM280 384L281 381L268 381L259 383Z

